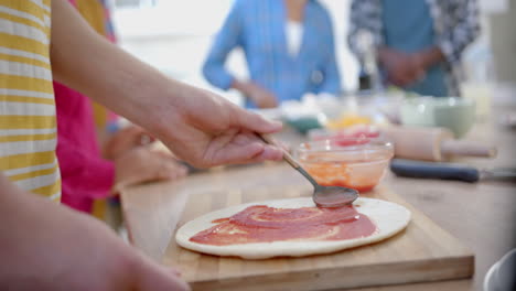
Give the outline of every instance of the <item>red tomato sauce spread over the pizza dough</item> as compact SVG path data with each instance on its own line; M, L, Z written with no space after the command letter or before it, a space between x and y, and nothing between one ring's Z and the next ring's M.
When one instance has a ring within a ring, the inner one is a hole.
M191 241L226 246L279 240L344 240L367 237L375 224L353 206L338 208L273 208L249 206L217 225L197 233Z

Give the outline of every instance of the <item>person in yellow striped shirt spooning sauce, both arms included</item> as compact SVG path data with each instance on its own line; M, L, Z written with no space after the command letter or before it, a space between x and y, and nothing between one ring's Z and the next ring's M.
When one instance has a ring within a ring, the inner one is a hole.
M165 77L96 34L66 0L0 0L0 289L187 290L101 223L52 202L61 193L53 79L197 168L281 159L255 133L281 125Z

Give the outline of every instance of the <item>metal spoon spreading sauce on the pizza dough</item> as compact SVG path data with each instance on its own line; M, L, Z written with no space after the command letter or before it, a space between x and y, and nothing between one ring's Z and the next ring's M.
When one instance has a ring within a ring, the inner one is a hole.
M266 143L277 146L276 141L267 134L258 134ZM313 202L319 207L341 207L352 204L358 197L358 191L354 188L340 186L322 186L320 185L304 169L295 161L290 153L283 151L283 160L286 160L293 169L298 170L310 183L312 183Z

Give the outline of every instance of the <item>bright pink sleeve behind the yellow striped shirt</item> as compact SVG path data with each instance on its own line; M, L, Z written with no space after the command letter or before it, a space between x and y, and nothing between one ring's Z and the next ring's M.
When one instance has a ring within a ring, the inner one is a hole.
M54 90L62 202L90 213L94 200L109 195L115 165L101 158L88 98L58 83L54 83Z

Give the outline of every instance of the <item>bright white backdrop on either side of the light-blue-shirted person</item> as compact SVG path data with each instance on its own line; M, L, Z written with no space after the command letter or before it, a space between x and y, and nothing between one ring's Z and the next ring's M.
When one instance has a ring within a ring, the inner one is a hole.
M213 37L219 30L234 0L112 0L114 22L120 45L171 77L218 91L202 76L201 67ZM333 15L337 57L345 67L346 87L356 87L357 64L345 42L347 0L324 0ZM248 76L241 50L228 58L228 68ZM221 93L221 91L218 91ZM236 91L224 94L241 104Z

